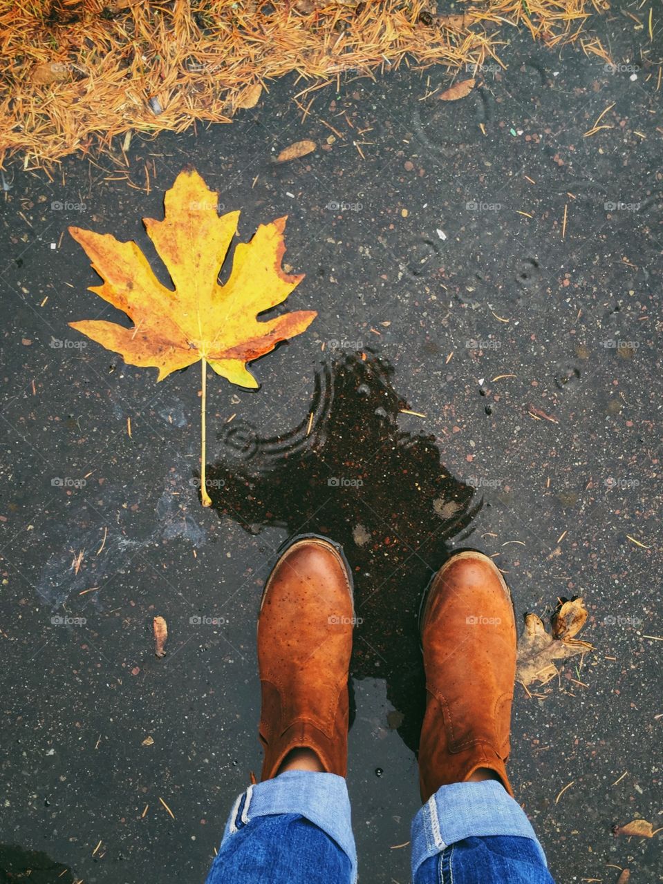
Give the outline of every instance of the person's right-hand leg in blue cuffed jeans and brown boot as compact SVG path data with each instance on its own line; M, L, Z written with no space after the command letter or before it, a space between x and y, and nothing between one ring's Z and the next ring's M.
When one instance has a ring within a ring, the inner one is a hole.
M552 884L506 776L516 666L511 595L495 564L459 552L421 617L428 702L424 805L412 822L414 884Z

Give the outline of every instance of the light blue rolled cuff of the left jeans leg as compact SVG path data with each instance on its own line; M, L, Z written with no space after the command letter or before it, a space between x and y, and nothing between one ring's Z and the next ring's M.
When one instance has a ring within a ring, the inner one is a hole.
M350 797L345 780L335 773L286 771L259 782L235 801L223 833L225 844L256 817L297 813L332 839L350 859L352 882L357 880L357 850L351 825Z

